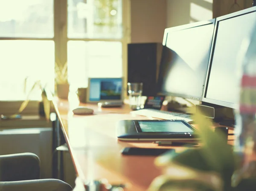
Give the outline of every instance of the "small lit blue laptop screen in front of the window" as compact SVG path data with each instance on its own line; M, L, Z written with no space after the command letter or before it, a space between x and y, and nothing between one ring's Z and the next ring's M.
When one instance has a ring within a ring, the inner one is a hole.
M87 101L121 101L122 89L122 78L89 78Z

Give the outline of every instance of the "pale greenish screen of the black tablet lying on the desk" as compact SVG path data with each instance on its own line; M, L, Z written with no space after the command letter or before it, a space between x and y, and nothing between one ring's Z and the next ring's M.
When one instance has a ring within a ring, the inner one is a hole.
M173 133L192 133L182 121L138 121L142 132L173 132Z

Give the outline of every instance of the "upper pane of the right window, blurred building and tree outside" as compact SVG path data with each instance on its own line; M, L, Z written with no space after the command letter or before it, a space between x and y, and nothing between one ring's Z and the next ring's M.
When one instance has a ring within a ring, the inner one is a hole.
M122 38L122 0L68 0L69 38Z

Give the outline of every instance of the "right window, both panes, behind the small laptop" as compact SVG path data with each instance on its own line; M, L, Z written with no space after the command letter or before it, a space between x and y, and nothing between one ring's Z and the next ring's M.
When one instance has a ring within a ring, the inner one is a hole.
M71 88L88 77L122 77L122 0L68 0L67 63Z

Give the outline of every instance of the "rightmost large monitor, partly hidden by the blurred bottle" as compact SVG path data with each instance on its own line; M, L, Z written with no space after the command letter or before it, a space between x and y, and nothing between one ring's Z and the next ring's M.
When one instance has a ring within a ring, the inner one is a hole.
M228 108L238 107L239 51L255 22L256 7L216 19L203 102Z

